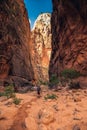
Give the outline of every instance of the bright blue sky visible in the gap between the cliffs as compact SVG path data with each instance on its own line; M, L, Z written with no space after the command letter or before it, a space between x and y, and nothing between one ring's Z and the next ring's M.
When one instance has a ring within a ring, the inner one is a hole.
M31 28L40 13L52 12L52 0L24 0Z

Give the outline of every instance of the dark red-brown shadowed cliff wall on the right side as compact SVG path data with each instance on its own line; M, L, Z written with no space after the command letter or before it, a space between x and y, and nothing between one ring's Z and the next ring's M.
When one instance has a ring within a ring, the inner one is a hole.
M50 76L74 68L87 76L87 0L52 0Z

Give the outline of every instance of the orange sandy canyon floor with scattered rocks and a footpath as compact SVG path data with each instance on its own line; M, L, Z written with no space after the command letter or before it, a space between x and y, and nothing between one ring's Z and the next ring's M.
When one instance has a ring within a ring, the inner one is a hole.
M47 94L57 99L47 99ZM0 130L87 130L87 89L16 93L19 105L0 97Z

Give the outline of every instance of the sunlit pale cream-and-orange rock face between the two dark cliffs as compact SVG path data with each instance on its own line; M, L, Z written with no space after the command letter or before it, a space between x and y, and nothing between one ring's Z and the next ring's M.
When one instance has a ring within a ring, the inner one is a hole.
M32 61L36 80L47 80L51 55L51 14L40 14L32 29Z

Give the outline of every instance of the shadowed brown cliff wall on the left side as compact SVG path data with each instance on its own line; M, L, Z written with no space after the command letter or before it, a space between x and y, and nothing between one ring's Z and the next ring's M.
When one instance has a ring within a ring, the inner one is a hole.
M23 0L0 0L0 79L33 79L29 39Z

